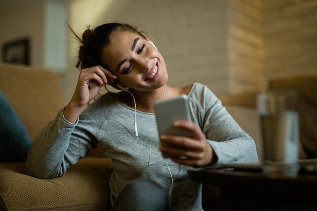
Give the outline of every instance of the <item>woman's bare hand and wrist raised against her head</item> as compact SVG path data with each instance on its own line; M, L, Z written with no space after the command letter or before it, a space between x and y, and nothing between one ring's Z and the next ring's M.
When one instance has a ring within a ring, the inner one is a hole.
M116 76L112 72L102 66L82 69L74 95L64 110L65 118L70 122L76 122L77 117L87 103L96 97L100 88L105 83L113 82L115 78Z

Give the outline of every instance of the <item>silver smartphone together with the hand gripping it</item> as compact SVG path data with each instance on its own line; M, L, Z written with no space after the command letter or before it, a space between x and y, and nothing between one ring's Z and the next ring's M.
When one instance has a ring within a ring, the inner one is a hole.
M188 96L157 101L155 111L163 157L193 167L210 165L217 160L205 134L191 122Z

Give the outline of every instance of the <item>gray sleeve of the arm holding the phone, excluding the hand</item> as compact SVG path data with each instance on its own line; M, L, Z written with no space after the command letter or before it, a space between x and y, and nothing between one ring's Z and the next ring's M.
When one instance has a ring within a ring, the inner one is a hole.
M214 167L221 163L258 161L254 140L241 129L217 98L206 116L203 132L218 156Z

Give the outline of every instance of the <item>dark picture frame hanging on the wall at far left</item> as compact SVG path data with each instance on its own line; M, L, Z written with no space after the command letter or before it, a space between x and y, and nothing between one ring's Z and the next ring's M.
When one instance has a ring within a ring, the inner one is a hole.
M22 38L3 45L2 61L11 64L30 65L30 41Z

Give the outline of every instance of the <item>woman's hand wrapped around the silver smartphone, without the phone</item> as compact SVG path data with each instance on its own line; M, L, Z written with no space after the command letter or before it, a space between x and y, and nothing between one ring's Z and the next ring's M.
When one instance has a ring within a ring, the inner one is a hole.
M162 135L161 141L169 145L160 146L162 153L170 155L174 162L193 167L203 167L217 161L205 134L197 125L189 121L178 121L174 126L189 131L192 137Z

